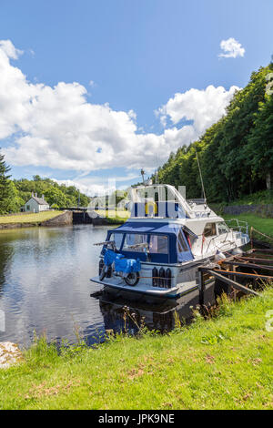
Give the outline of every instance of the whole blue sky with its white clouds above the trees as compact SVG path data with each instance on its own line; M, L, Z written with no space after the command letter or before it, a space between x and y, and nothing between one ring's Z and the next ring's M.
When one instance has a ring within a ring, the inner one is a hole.
M89 193L109 177L136 181L139 168L198 138L273 53L271 0L0 5L0 40L24 51L2 46L0 146L13 175ZM230 38L236 57L220 47Z

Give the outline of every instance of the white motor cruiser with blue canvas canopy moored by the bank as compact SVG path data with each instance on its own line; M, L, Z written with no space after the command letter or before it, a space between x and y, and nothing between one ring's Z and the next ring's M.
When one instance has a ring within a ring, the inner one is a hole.
M248 229L229 229L206 200L172 186L137 187L130 200L130 219L96 244L103 250L92 280L107 290L177 298L197 288L198 265L248 243Z

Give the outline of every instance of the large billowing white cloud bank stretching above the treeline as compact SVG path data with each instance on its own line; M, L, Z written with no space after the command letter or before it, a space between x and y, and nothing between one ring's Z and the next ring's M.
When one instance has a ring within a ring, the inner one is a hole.
M19 55L8 40L0 42L0 139L11 143L2 151L12 165L74 169L88 173L100 168L152 169L170 151L198 138L225 113L237 87L190 89L158 109L172 127L161 135L139 133L133 110L86 101L86 87L59 82L56 87L27 81L10 64ZM178 127L181 118L192 125Z

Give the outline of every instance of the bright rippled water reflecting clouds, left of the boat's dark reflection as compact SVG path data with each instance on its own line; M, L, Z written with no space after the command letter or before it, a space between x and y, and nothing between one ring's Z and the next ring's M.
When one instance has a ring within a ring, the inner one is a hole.
M28 346L34 331L48 340L76 341L75 325L89 333L103 329L97 286L99 248L106 228L32 228L0 233L2 289L0 309L6 329L0 341ZM6 257L8 255L9 257Z

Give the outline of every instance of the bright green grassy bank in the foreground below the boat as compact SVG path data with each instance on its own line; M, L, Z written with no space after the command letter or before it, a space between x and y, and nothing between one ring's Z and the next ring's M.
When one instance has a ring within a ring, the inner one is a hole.
M171 334L61 355L45 340L0 370L1 409L272 409L273 290Z

